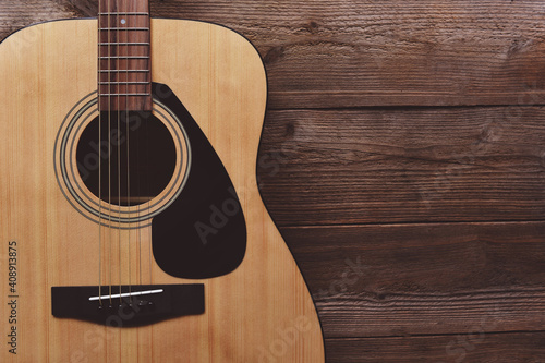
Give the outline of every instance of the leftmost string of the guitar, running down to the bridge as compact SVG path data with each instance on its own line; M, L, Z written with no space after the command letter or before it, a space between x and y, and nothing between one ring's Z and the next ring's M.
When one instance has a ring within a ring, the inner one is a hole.
M102 32L101 29L101 0L98 1L98 70L101 69L101 43L102 43ZM100 84L101 74L98 72L98 302L102 306L102 120L101 120L101 97L100 97Z

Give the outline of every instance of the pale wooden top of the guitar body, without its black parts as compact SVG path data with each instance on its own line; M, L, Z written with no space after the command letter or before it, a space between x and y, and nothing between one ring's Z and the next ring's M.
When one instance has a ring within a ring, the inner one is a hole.
M152 40L154 82L183 104L234 187L245 218L243 258L219 276L173 276L175 250L161 267L161 247L154 246L161 232L154 228L166 222L100 231L78 210L60 177L61 164L75 162L75 152L65 152L68 161L58 154L68 116L97 89L97 22L24 28L0 45L0 361L324 361L313 301L256 184L267 90L257 51L232 31L193 21L154 19ZM66 178L88 194L81 177ZM218 218L215 203L204 226ZM221 201L218 208L226 210ZM201 232L213 235L221 227ZM116 263L105 267L108 261ZM123 326L132 312L120 315L117 326L53 316L51 288L97 286L99 277L114 286L203 285L204 313L138 326Z

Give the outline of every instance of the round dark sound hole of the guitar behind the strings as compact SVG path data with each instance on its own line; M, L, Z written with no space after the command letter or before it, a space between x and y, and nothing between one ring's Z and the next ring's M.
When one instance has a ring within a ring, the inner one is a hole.
M102 112L100 122L96 117L83 131L76 160L83 182L95 196L134 206L167 187L177 155L169 130L150 112Z

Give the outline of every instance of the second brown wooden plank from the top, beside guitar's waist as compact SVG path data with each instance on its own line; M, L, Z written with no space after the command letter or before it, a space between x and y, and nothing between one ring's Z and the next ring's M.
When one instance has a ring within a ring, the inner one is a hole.
M542 219L544 114L542 107L270 111L261 187L280 226Z

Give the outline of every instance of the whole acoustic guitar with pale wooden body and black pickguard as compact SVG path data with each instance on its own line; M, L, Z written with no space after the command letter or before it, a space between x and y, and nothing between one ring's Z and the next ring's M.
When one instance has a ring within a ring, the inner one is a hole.
M100 0L0 45L1 362L323 362L241 35Z

